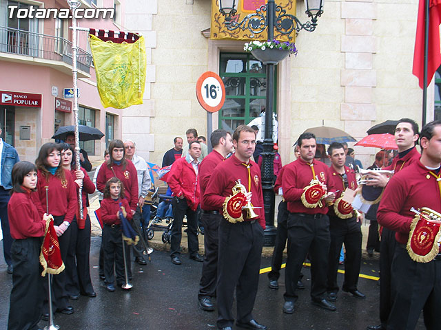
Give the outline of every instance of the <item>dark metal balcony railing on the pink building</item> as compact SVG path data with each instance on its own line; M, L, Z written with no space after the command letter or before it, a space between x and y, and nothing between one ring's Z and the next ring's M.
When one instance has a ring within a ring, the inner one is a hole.
M63 61L72 65L72 43L58 36L0 26L0 52ZM92 54L78 49L78 69L90 72Z

